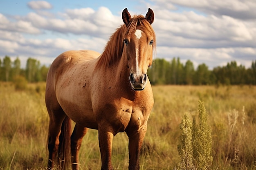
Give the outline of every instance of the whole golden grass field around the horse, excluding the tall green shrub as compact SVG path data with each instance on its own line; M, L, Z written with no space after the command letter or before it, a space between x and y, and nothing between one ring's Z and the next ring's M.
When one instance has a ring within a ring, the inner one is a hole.
M0 82L0 170L40 170L47 166L48 115L45 84L29 84L16 91ZM141 150L141 170L173 170L182 117L198 117L204 102L212 130L211 170L256 170L256 86L153 86L155 105ZM113 141L115 170L128 169L128 138ZM97 130L85 135L80 167L101 168Z

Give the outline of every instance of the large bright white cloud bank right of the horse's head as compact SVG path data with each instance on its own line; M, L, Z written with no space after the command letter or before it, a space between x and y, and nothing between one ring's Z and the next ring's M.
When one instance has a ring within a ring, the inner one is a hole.
M170 11L169 14L169 18L156 18L153 23L158 45L189 48L256 46L254 21L242 21L229 16L204 16L192 11Z

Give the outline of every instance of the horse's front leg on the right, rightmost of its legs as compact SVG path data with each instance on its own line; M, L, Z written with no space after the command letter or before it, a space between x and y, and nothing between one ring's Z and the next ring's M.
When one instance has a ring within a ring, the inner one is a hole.
M127 132L129 137L129 170L139 170L139 153L147 131L147 124L136 132Z

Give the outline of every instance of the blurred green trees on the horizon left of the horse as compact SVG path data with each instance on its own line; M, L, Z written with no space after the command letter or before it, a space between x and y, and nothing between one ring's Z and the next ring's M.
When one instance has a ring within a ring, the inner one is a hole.
M9 56L0 59L0 81L12 82L24 78L27 82L45 82L49 67L41 66L40 61L28 58L26 68L21 68L20 59L11 61Z

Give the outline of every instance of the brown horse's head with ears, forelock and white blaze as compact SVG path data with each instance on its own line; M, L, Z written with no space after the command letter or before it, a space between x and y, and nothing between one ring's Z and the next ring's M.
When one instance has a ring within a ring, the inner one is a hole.
M130 84L134 90L140 91L148 81L146 73L152 64L155 49L155 32L151 27L154 13L148 9L145 18L142 15L131 18L124 9L122 18L127 28L124 33L124 53L130 69Z

